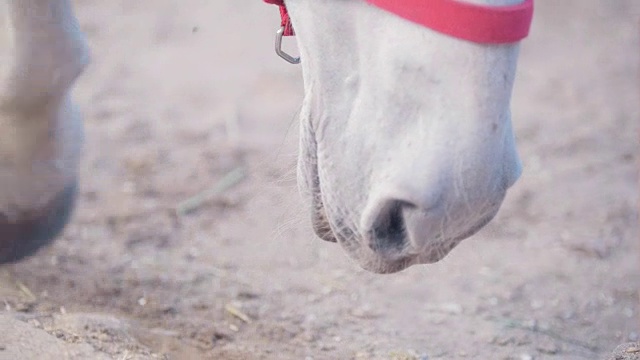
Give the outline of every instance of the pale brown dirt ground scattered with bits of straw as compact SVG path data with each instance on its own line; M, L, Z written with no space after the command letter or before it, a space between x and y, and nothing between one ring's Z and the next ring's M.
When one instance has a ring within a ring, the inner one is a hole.
M0 268L0 359L572 360L638 341L639 1L536 1L521 180L443 261L385 276L312 234L277 8L75 3L94 59L80 203Z

